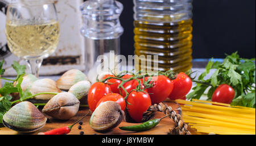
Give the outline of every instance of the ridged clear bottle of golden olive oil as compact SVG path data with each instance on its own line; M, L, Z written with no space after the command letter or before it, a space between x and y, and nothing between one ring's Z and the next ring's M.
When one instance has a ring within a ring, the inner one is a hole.
M135 55L158 55L158 70L191 69L191 3L191 0L134 0ZM137 65L139 69L146 68Z

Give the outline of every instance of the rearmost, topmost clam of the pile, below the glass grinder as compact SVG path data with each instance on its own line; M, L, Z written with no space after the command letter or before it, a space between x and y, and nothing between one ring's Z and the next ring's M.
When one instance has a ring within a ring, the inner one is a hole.
M71 86L80 81L89 81L86 75L78 69L71 69L65 72L59 80L57 86L62 90L69 90Z

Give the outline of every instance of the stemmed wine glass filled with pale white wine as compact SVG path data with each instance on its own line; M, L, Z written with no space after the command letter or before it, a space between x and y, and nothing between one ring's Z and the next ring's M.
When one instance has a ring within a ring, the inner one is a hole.
M54 3L26 1L8 6L7 44L14 55L27 61L32 74L39 77L43 59L55 52L59 43L59 21Z

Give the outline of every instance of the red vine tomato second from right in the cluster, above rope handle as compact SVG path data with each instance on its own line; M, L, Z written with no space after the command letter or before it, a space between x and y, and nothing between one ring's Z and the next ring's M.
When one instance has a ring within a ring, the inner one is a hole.
M146 80L148 80L148 77ZM163 102L171 94L172 89L174 89L174 83L163 75L152 77L152 81L154 82L154 86L148 88L147 91L150 94L152 104L158 104Z

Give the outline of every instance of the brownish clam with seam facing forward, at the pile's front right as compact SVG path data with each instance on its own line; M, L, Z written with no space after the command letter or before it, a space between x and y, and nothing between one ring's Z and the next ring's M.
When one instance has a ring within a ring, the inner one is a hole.
M43 108L43 113L55 119L68 120L79 110L80 102L72 93L63 92L55 95Z

